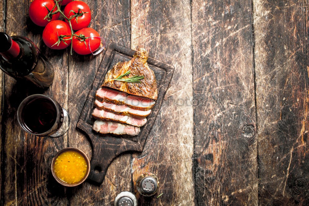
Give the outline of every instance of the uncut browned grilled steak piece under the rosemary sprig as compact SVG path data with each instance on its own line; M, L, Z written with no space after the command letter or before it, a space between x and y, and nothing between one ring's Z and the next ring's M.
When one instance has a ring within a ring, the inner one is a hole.
M102 86L114 88L128 94L133 94L141 97L148 97L156 100L158 98L157 81L154 72L147 65L148 52L139 48L133 55L133 58L128 62L118 62L105 76ZM131 71L124 79L135 75L144 76L141 83L129 83L116 81L117 77Z

